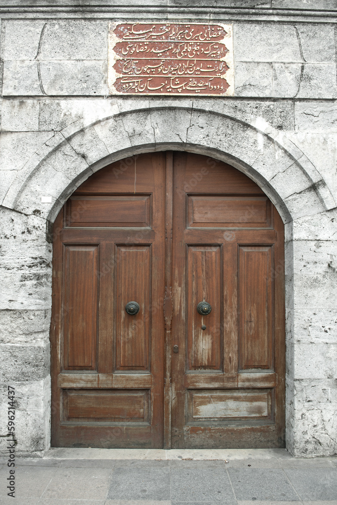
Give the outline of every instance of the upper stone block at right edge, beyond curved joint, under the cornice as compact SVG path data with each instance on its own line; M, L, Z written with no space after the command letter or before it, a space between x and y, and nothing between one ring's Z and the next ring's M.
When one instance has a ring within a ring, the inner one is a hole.
M322 7L322 2L319 2ZM335 9L335 2L334 8ZM303 59L307 63L335 63L334 27L332 24L297 24Z

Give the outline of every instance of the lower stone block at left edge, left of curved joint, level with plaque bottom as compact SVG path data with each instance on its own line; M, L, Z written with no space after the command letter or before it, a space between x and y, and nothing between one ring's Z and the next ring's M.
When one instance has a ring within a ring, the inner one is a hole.
M36 96L43 94L36 61L5 61L3 95Z

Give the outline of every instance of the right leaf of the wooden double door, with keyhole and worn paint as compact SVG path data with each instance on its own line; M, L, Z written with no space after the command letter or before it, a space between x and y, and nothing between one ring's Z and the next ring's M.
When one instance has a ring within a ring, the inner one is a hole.
M173 168L172 447L282 447L283 224L232 167Z

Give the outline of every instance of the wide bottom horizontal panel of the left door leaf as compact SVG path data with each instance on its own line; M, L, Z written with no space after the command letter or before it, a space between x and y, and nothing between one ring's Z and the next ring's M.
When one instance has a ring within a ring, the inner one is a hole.
M149 389L62 389L63 423L149 424Z

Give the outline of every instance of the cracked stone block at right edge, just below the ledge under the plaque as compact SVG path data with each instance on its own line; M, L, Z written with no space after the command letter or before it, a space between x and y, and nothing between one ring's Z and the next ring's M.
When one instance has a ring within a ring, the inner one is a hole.
M295 131L337 132L337 102L296 102Z

